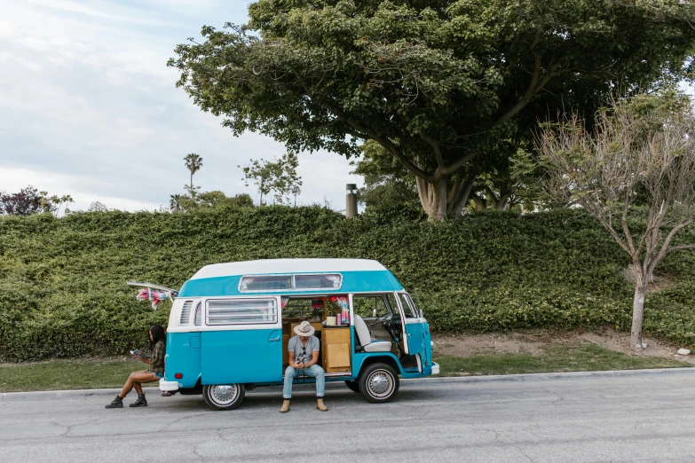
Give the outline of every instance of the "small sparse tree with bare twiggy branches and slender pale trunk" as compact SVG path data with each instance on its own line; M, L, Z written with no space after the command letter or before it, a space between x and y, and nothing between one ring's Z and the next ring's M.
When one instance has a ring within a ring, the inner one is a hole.
M630 255L635 349L644 348L644 297L654 269L669 253L695 248L673 242L695 219L695 118L689 98L670 97L615 102L596 115L591 131L575 114L536 135L549 196L586 209ZM628 217L640 216L644 224L631 226Z

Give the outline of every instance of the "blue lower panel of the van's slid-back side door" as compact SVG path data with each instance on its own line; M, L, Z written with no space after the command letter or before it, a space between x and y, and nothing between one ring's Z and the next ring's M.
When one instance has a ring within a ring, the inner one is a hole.
M282 331L271 327L201 333L201 383L282 381Z

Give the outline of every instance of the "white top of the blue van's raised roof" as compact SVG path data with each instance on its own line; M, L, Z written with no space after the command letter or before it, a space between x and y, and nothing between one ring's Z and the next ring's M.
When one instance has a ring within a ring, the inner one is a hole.
M266 273L323 273L327 271L384 271L381 263L367 259L264 259L214 263L201 268L191 279Z

